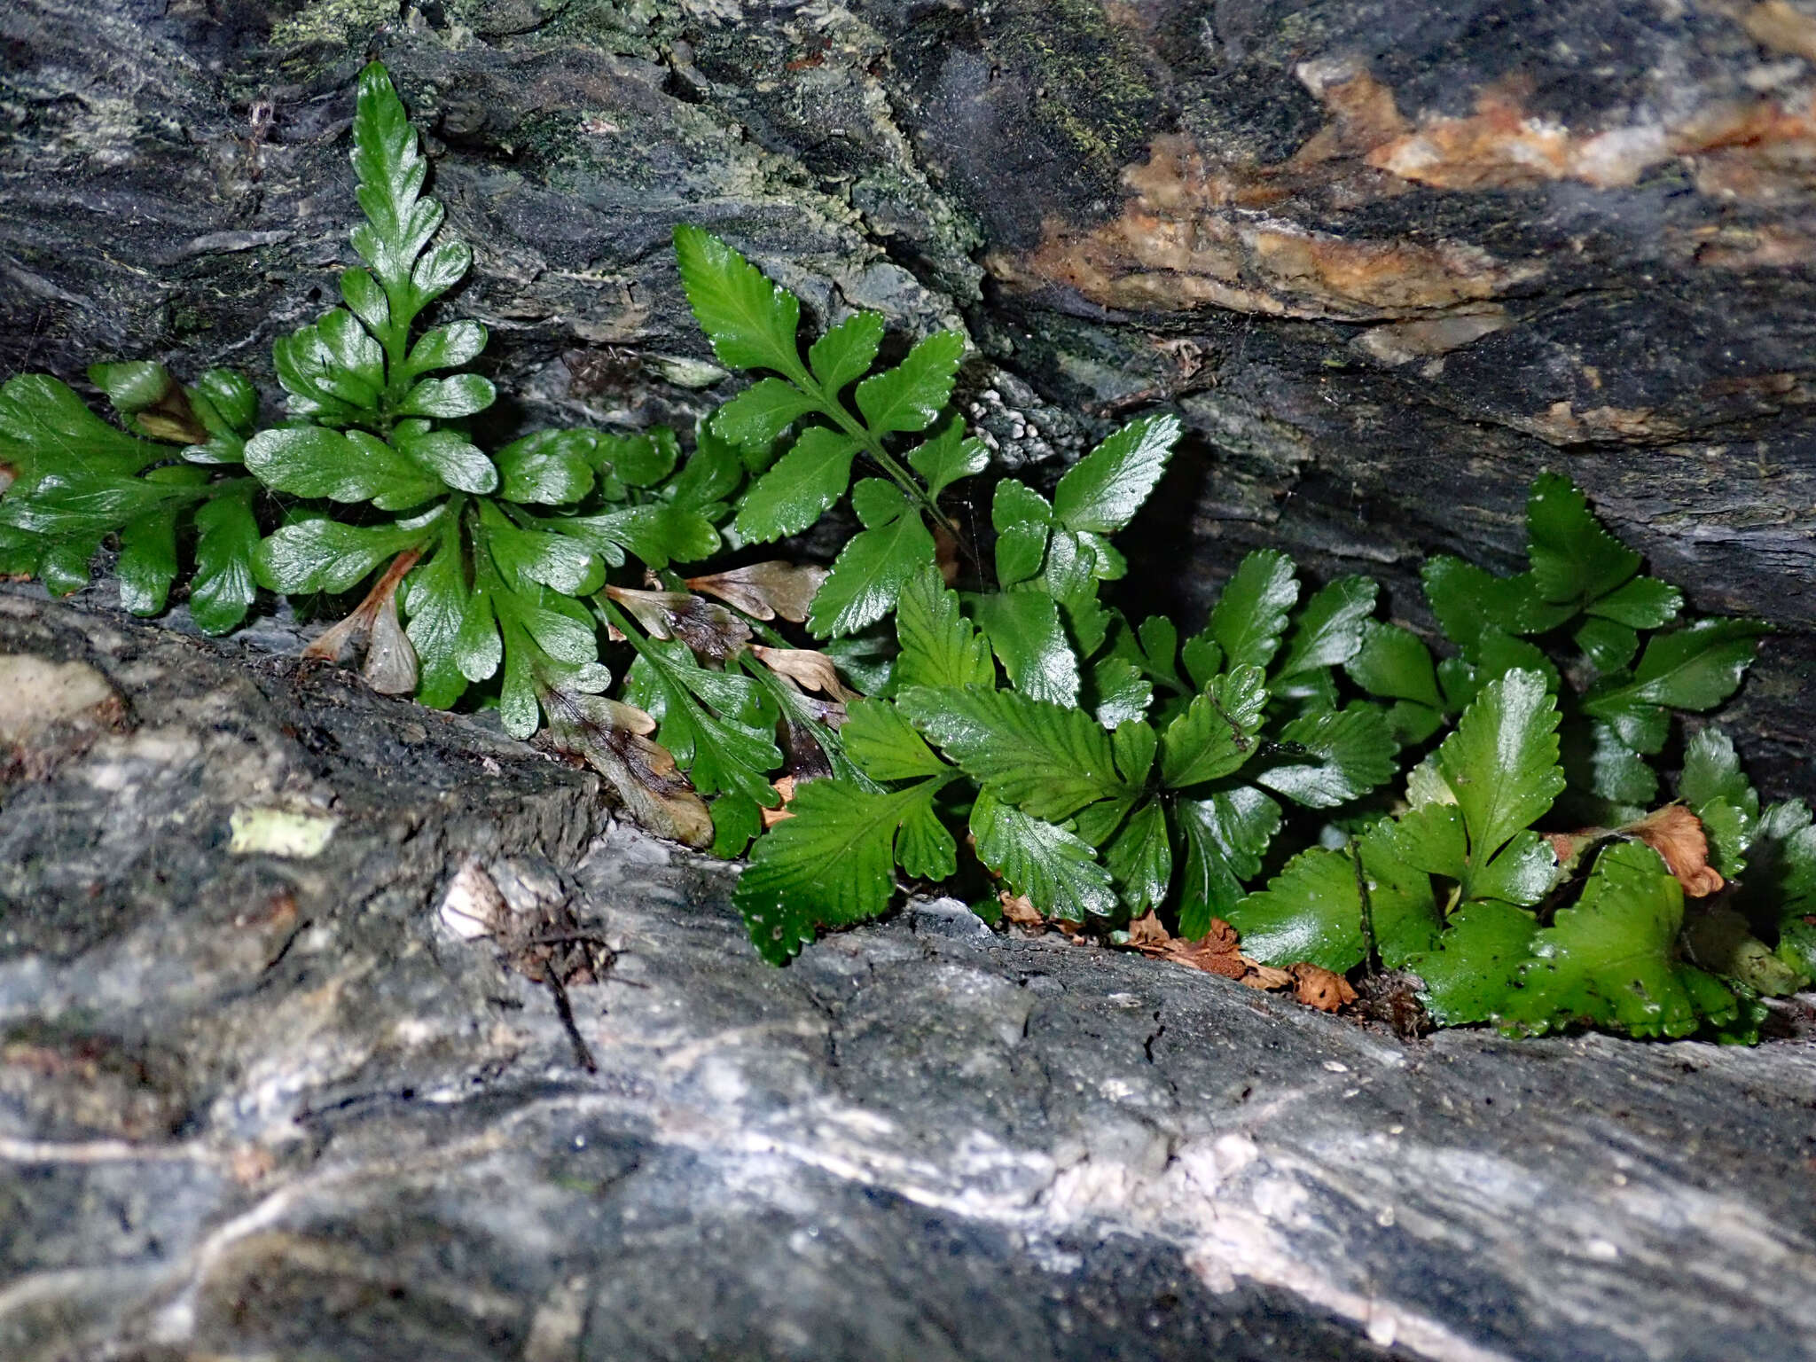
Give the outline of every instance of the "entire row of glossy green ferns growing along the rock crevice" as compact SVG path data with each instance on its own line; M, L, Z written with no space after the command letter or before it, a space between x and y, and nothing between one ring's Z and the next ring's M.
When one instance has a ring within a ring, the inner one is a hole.
M69 592L113 545L129 610L187 581L216 634L260 588L363 587L312 654L363 641L374 688L496 708L652 830L748 850L735 903L777 964L941 884L990 921L1008 903L1264 984L1311 972L1326 1006L1335 975L1402 972L1438 1024L1516 1033L1754 1039L1760 999L1816 975L1811 812L1762 808L1720 730L1678 735L1765 627L1683 619L1565 476L1533 487L1524 572L1426 565L1436 648L1380 617L1377 583L1313 590L1275 550L1195 632L1137 619L1115 539L1173 416L1051 487L992 481L952 405L961 334L879 365L884 321L857 312L803 345L799 300L690 225L681 283L748 387L686 441L489 449L487 331L445 316L472 256L378 64L352 142L363 263L274 345L283 419L262 429L227 370L96 365L118 423L11 380L0 572ZM830 567L754 550L841 505Z

